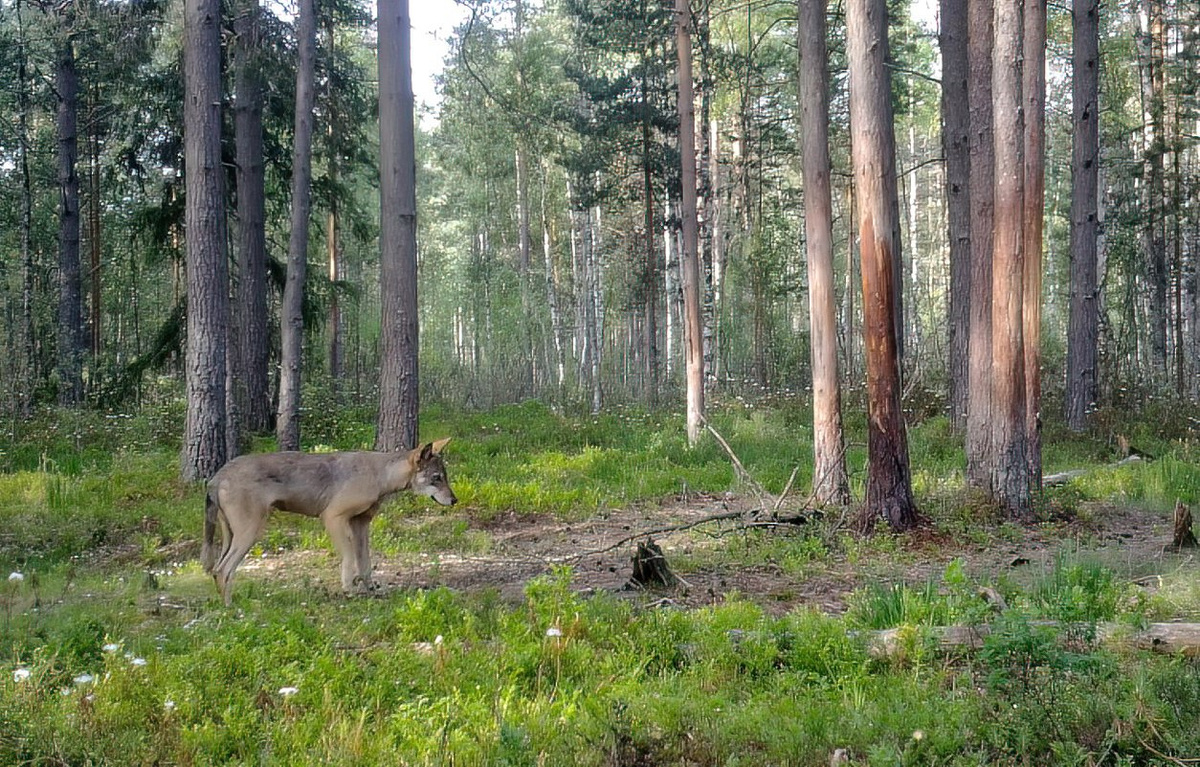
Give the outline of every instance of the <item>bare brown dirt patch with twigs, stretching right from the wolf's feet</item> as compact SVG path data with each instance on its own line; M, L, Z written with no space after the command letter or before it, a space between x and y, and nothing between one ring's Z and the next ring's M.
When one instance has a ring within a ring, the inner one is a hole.
M376 552L374 577L379 595L445 586L464 592L496 589L503 600L516 603L530 579L568 565L572 587L582 593L637 598L647 594L630 582L634 550L638 540L653 538L682 580L674 588L649 594L664 604L700 607L734 593L769 615L797 607L840 615L856 589L871 582L936 582L955 559L979 582L1027 582L1052 571L1056 558L1070 555L1102 564L1147 593L1156 591L1163 575L1200 571L1195 555L1169 547L1168 515L1112 503L1086 504L1068 520L1032 526L985 521L968 532L926 526L902 537L862 538L847 531L844 516L772 528L746 528L738 520L703 522L757 508L752 498L726 493L608 509L581 521L515 513L487 520L451 515L474 535L470 546ZM790 511L784 508L781 513ZM434 514L408 516L398 525L415 531L445 522L446 515ZM679 527L685 529L668 529ZM811 556L797 558L798 549ZM328 549L301 547L251 557L241 573L254 580L312 579L335 591L337 563Z

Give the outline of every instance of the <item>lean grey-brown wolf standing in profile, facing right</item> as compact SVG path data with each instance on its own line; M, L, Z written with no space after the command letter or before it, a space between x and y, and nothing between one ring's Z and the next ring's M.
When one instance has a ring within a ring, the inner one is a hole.
M370 526L384 501L409 490L442 505L458 502L442 460L448 442L401 453L259 453L229 461L208 485L204 571L229 605L234 571L262 537L271 509L280 509L319 517L342 557L342 588L370 588Z

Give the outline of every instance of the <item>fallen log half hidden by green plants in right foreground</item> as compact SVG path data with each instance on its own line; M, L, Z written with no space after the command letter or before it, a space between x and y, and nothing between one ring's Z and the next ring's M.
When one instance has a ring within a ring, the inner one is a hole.
M1069 624L1056 621L1034 623L1039 627L1069 628ZM902 657L913 641L930 637L944 653L978 651L991 631L988 624L883 629L868 635L866 649L872 658L894 659ZM1110 649L1148 649L1169 655L1200 658L1200 623L1151 623L1142 629L1122 623L1100 623L1096 627L1096 643Z

